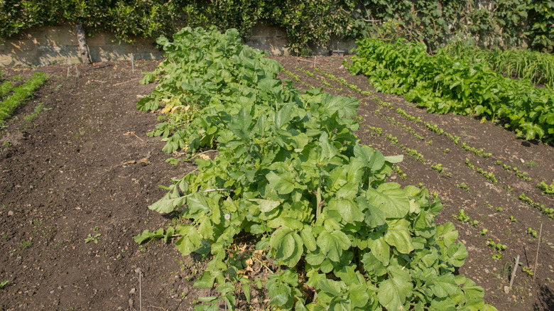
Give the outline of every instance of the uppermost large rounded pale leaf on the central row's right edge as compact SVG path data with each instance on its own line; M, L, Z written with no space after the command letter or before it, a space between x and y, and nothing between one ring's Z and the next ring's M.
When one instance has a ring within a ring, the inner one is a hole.
M379 207L386 218L403 218L410 211L410 201L396 182L386 182L377 189L367 190L369 204Z

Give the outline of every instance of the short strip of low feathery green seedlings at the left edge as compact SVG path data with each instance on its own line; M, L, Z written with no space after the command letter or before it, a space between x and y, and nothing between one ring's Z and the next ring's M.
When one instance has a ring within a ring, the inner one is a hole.
M31 79L11 89L13 94L0 102L0 124L6 121L17 107L31 97L33 92L43 85L46 79L48 79L48 75L45 75L43 72L36 72ZM11 87L11 84L9 86Z

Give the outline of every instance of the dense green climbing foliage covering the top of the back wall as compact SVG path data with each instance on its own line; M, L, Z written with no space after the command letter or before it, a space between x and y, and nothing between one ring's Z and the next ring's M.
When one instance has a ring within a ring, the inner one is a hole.
M293 53L337 37L404 37L432 52L448 40L552 50L554 0L0 0L0 42L35 26L82 23L131 36L171 36L183 26L283 28Z

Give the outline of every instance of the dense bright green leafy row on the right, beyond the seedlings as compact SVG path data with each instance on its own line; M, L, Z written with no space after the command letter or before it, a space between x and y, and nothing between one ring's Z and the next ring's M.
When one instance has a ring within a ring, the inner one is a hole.
M506 122L526 139L554 140L554 92L528 80L499 76L485 63L468 64L444 50L433 56L418 43L357 41L349 70L378 91L406 95L429 112L478 114Z

